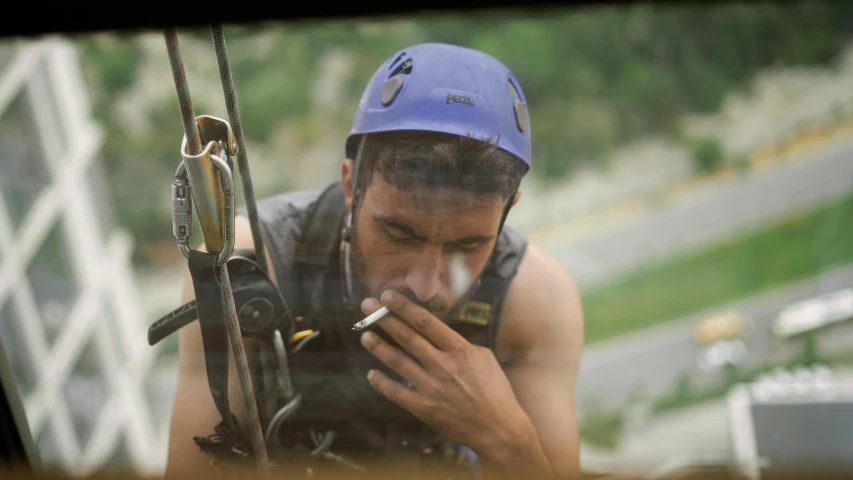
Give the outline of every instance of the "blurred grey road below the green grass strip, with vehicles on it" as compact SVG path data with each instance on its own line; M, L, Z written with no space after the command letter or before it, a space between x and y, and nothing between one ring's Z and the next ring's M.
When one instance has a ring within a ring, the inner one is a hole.
M621 404L634 388L645 395L668 392L682 374L694 385L713 382L719 374L706 373L698 364L698 346L693 334L699 320L712 312L735 309L753 322L747 339L747 366L765 359L792 358L801 352L799 342L782 345L771 337L770 326L788 304L853 285L853 265L837 268L818 277L770 291L711 311L668 322L635 334L589 347L583 354L576 400L593 396L605 404ZM821 353L853 351L853 325L840 325L819 337Z

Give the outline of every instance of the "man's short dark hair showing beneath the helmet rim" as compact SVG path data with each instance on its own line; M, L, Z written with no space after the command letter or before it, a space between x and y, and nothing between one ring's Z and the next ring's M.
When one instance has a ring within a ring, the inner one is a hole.
M398 131L368 135L359 166L358 188L378 172L403 191L461 188L476 197L507 199L518 190L526 165L498 148L495 139L478 140L436 132Z

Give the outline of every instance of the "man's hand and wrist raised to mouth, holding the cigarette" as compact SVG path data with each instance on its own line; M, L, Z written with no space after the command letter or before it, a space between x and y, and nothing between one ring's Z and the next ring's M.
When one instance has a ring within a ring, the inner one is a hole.
M377 324L417 361L365 332L364 347L412 384L406 388L372 370L368 381L373 388L502 467L553 475L536 429L491 350L471 344L404 295L386 291L382 302L392 314ZM362 310L370 314L380 306L369 298Z

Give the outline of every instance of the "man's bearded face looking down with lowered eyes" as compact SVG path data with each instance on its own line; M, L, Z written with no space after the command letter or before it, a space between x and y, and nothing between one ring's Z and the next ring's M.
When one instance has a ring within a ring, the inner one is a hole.
M485 268L504 206L456 189L404 192L374 173L354 219L355 282L365 295L393 289L443 318Z

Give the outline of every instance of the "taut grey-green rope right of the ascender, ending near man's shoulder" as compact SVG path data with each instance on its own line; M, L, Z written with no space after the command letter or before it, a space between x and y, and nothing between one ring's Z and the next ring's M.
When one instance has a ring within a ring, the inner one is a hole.
M258 265L267 272L266 250L264 238L258 222L258 209L255 202L255 191L252 187L252 177L249 174L249 160L246 156L246 143L243 141L243 124L240 121L240 111L237 110L237 95L234 92L234 80L231 78L231 65L228 62L228 50L225 47L225 35L222 25L210 26L213 36L213 46L216 49L216 58L219 60L219 76L222 79L222 90L225 94L225 106L228 108L228 119L234 136L237 137L237 165L240 167L240 180L243 183L243 197L246 199L246 210L249 213L249 225L252 228L252 239L255 244L255 253L258 256Z

